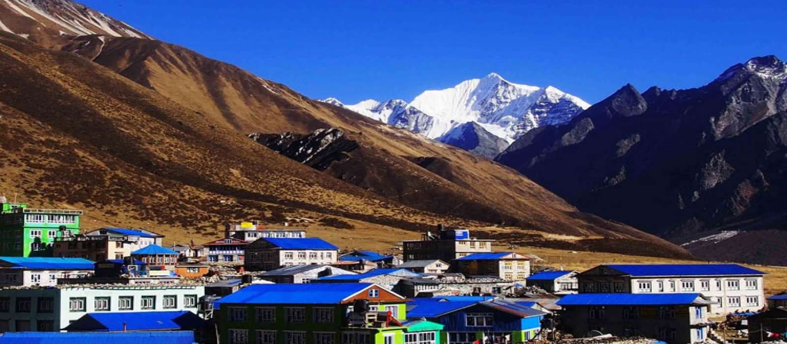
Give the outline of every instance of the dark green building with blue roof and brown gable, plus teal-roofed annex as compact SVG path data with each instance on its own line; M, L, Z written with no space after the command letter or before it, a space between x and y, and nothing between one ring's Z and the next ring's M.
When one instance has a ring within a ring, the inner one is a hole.
M221 344L439 344L443 325L408 322L405 301L377 284L253 284L214 307Z

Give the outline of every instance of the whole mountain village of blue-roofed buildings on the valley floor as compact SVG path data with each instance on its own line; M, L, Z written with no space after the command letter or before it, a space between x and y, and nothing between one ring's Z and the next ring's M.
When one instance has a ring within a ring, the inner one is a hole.
M390 252L342 251L290 226L229 223L164 246L84 231L81 210L0 199L0 344L764 342L787 294L737 264L562 270L435 225Z

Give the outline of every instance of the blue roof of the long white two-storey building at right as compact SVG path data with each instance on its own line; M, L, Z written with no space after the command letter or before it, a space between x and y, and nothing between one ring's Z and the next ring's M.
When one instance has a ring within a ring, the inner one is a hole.
M611 264L604 265L631 276L765 275L737 264Z

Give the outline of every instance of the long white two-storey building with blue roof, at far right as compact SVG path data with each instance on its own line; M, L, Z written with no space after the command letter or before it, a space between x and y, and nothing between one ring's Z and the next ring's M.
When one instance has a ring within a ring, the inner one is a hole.
M737 264L599 265L577 275L579 293L700 293L711 313L755 311L766 304L765 273Z

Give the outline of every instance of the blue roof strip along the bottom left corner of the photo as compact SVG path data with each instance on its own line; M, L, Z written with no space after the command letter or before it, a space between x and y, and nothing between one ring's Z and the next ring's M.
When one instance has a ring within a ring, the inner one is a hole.
M6 332L0 344L193 344L194 331Z

